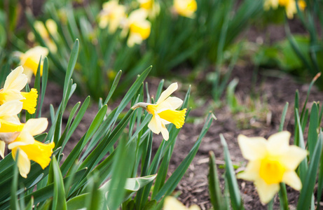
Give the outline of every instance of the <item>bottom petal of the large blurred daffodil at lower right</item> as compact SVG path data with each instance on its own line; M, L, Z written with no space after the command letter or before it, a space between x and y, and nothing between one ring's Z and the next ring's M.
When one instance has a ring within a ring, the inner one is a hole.
M270 202L270 200L273 199L278 190L280 190L279 183L268 185L262 179L256 180L254 182L254 185L256 186L259 198L263 204L267 204L268 202Z

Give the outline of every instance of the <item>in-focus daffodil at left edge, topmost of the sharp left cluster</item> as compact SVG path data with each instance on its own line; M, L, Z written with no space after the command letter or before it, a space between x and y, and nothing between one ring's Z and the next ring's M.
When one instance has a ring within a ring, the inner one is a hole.
M18 66L11 71L6 78L4 88L0 90L0 105L13 100L22 102L22 109L33 114L37 105L37 90L32 88L30 92L20 92L27 84L27 76L22 73L24 69Z

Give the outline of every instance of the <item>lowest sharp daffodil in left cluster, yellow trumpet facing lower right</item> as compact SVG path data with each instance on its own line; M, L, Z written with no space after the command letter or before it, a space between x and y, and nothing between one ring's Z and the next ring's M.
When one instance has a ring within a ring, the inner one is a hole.
M18 137L8 144L8 149L12 150L13 159L19 150L18 168L20 175L24 178L27 178L30 171L30 160L37 162L42 169L45 169L50 163L50 156L55 144L53 142L43 144L33 137L44 132L47 125L46 118L29 119Z

